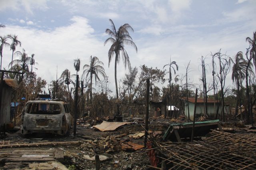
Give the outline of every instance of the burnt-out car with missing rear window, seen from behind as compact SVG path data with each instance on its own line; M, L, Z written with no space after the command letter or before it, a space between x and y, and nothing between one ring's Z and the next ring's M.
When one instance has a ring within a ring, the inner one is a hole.
M28 133L54 133L65 135L71 127L72 116L64 102L28 101L22 111L20 131Z

